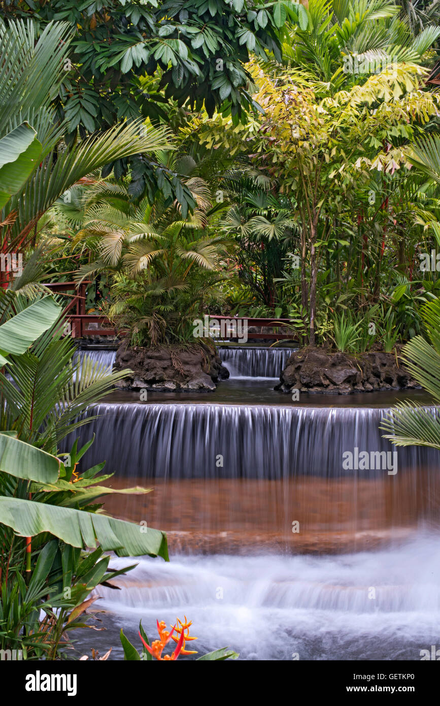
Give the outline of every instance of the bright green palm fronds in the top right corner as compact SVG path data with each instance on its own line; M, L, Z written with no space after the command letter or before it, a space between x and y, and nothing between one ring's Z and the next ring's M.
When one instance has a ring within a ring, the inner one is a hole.
M324 95L365 80L365 71L348 68L354 60L358 67L371 66L367 74L390 62L423 64L425 52L440 36L436 14L415 31L400 11L389 0L310 0L311 21L306 30L291 28L283 44L284 63L320 83Z

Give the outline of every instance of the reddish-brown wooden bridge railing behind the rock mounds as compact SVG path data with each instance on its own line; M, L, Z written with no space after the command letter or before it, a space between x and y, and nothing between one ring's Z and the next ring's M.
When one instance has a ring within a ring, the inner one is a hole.
M116 336L116 330L111 325L111 322L104 315L87 314L85 313L85 298L87 285L92 282L86 280L80 285L76 282L56 282L55 284L45 284L54 294L61 294L68 297L70 301L66 304L63 311L67 321L71 324L71 335L73 338L85 338L90 336ZM71 294L73 292L73 294ZM291 325L291 320L288 318L249 318L249 317L233 317L233 316L216 316L209 314L209 321L245 321L247 324L247 339L248 340L290 340L292 334L276 333L276 328ZM259 328L259 331L251 332L250 328ZM263 328L271 328L271 333L264 333Z

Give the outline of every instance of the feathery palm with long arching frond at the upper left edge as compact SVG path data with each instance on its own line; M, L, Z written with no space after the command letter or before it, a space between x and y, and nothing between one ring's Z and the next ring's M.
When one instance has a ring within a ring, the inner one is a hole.
M79 179L114 160L138 152L171 149L169 131L142 120L97 133L71 150L61 145L51 97L66 80L71 30L22 20L0 20L0 208L1 251L23 251L39 218Z

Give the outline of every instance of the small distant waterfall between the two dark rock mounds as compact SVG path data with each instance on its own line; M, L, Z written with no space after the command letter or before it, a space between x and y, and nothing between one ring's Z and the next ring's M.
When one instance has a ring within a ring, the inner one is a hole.
M219 347L231 378L279 378L296 348Z

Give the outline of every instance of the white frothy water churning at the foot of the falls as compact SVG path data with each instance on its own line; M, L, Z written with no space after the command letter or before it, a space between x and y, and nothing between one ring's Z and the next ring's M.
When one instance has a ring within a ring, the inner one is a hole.
M339 556L141 559L128 583L100 589L98 604L116 613L136 644L141 618L155 639L157 618L171 625L185 614L200 654L228 645L240 659L386 660L420 659L420 650L440 647L440 542L433 534Z

